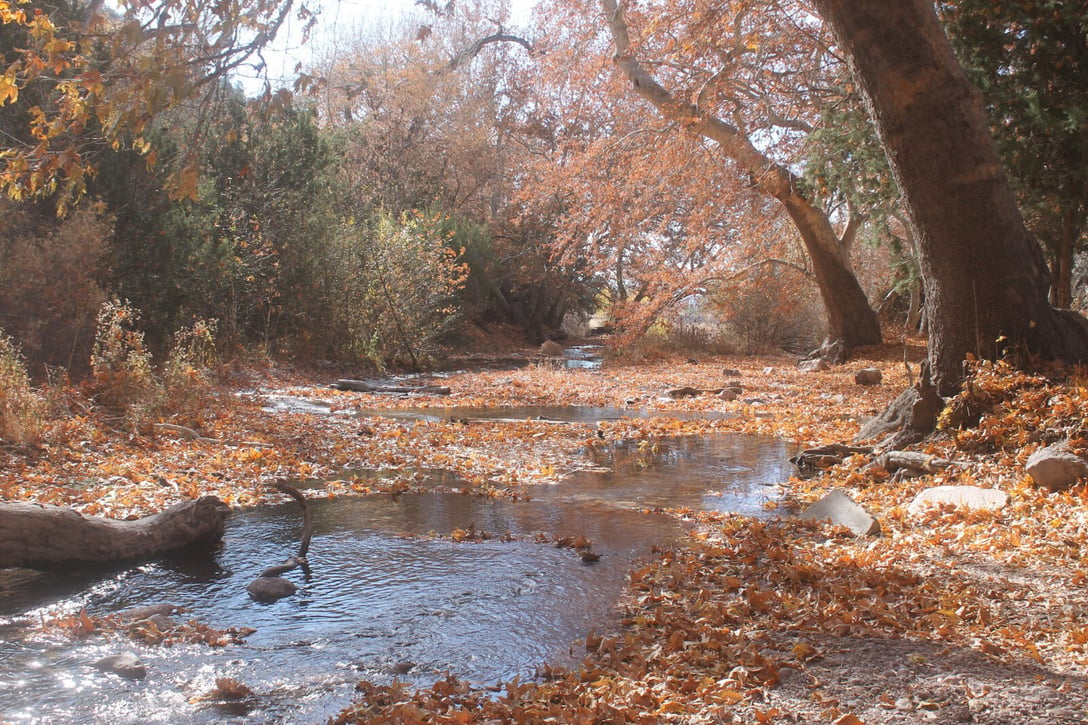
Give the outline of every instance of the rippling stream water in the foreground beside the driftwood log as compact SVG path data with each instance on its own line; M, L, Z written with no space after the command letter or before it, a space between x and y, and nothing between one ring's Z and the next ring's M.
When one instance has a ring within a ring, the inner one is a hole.
M580 660L576 640L614 620L626 574L681 536L662 507L763 515L791 451L740 435L618 443L596 468L533 491L532 501L459 493L343 497L312 503L310 572L299 592L257 604L246 585L297 548L296 505L232 515L210 560L164 560L73 579L7 573L0 580L0 722L323 722L360 679L428 685L453 674L489 685ZM444 481L448 486L449 481ZM494 538L457 543L457 529ZM584 536L586 565L561 537ZM4 574L4 573L0 573ZM181 618L252 627L242 644L145 647L41 632L47 613L106 614L170 602ZM90 666L136 652L143 680ZM218 677L256 692L224 711L199 698Z

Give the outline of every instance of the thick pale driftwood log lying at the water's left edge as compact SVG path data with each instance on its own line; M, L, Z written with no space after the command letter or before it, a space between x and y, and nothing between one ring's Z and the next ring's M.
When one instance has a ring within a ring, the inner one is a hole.
M223 538L230 507L202 496L133 521L84 516L71 508L0 504L0 568L71 568L148 558Z

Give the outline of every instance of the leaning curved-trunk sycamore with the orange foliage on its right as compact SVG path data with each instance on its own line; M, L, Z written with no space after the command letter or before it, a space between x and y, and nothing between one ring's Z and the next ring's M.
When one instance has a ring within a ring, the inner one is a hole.
M826 349L841 360L880 342L850 260L856 219L832 216L795 171L819 105L833 100L828 78L837 63L816 19L798 3L616 0L601 0L597 15L634 93L678 133L705 139L722 164L790 217L824 302L828 342L837 343Z

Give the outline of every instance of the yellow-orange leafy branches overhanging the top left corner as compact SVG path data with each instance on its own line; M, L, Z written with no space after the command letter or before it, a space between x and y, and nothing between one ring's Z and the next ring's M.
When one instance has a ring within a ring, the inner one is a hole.
M0 189L15 200L62 192L63 208L83 194L103 147L153 161L145 134L163 111L214 100L218 82L293 10L312 23L295 1L158 0L121 3L119 14L101 0L0 0L0 108L22 105L18 133L0 143ZM197 176L183 164L174 194L194 197Z

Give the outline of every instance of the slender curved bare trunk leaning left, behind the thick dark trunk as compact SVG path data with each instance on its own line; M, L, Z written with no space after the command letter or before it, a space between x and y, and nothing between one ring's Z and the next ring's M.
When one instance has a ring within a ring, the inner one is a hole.
M617 0L601 0L601 7L616 45L616 64L630 78L634 90L665 118L716 142L726 156L751 175L761 192L786 207L812 261L827 312L828 342L841 343L848 353L854 347L879 344L880 319L869 306L827 214L799 191L800 180L761 152L740 128L722 119L707 116L694 103L662 86L632 54L627 22Z

